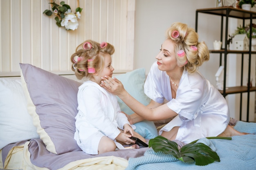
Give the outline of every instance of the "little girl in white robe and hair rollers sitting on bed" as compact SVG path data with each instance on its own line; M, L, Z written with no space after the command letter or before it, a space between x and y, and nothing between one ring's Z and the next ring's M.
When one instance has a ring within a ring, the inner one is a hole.
M121 113L117 97L100 86L101 77L112 77L111 55L114 46L87 40L76 48L71 56L72 70L85 82L77 94L78 113L74 139L87 154L97 155L124 149L121 144L135 144L129 137L143 137L134 132L127 117ZM121 144L120 144L121 143ZM138 148L133 145L133 148Z

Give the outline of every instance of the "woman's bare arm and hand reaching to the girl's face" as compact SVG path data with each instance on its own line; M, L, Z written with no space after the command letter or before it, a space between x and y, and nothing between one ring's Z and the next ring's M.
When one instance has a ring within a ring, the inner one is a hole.
M105 76L102 77L102 79L101 87L105 88L108 92L117 95L128 107L146 120L162 120L177 115L177 113L172 111L166 104L152 109L141 104L124 89L123 84L117 80L117 78L112 79L109 76Z

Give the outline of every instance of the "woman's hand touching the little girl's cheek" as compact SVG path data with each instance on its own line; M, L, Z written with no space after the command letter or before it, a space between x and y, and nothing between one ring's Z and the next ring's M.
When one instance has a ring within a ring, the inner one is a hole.
M117 78L114 77L113 79L110 76L104 76L101 77L101 79L103 79L103 81L101 81L100 86L106 89L108 92L117 96L125 92L124 85L121 83L121 81L117 80Z

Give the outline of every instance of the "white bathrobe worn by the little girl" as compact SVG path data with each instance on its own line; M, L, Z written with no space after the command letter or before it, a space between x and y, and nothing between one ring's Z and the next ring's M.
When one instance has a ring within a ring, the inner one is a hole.
M101 137L107 136L115 141L119 129L124 129L124 124L130 124L121 113L117 97L97 83L85 81L79 87L77 101L74 139L85 153L97 155Z

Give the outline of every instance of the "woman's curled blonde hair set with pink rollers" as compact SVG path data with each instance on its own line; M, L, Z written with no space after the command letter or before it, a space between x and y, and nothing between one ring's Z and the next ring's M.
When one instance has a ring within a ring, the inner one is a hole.
M207 45L204 42L198 42L198 33L193 28L189 28L187 24L173 23L166 30L166 38L176 44L177 65L184 65L184 69L189 73L194 73L204 61L210 58ZM184 56L178 56L179 50L184 50Z

